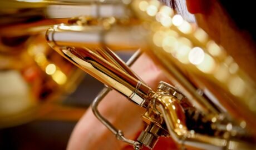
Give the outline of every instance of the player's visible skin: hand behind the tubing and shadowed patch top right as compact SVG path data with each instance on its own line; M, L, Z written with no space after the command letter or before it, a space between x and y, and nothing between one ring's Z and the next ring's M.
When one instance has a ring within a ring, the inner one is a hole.
M254 67L256 65L256 48L249 33L236 27L216 0L187 0L186 2L190 13L195 14L198 25L216 43L221 44L235 59L239 67L256 81L256 74L254 73L256 71ZM156 89L159 81L166 80L163 73L145 55L137 60L132 69L152 89ZM107 94L100 104L99 110L117 128L122 129L127 138L134 139L143 127L140 115L144 110L127 101L115 91ZM125 143L117 141L115 136L93 116L90 108L77 123L67 147L67 149L124 148L127 149Z

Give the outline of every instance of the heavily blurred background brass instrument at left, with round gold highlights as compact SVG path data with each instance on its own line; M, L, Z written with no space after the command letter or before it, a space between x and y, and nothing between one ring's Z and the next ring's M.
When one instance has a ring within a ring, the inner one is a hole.
M18 46L1 46L8 48L0 51L0 128L47 113L45 107L74 91L84 76L47 45L43 34Z

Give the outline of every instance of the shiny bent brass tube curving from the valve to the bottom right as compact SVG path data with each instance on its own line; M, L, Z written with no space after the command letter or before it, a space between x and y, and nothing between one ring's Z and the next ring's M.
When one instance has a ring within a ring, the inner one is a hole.
M200 149L254 149L253 144L211 137L189 131L186 128L184 111L179 101L173 96L160 95L156 98L156 108L163 114L171 138L181 146L196 147Z

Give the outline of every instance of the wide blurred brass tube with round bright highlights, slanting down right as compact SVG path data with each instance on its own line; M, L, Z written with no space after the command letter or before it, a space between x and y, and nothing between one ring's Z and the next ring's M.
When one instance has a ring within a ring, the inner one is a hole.
M148 4L145 8L141 7L144 3ZM134 0L131 7L135 16L150 24L148 53L190 103L206 114L224 114L230 120L245 122L255 135L256 122L251 119L256 115L255 82L243 72L246 67L239 66L239 59L230 56L233 50L218 46L203 29L157 1ZM201 55L193 54L198 50ZM192 58L202 59L194 62ZM231 71L233 66L235 72Z

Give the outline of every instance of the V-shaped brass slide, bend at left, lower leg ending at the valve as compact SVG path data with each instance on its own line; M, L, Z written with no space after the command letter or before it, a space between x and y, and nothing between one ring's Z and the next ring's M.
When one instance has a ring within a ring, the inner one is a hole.
M78 27L78 28L77 28ZM80 31L80 32L77 32ZM88 48L66 48L65 46L86 46L93 44L93 47L101 45L102 37L105 29L102 26L65 26L60 24L48 29L46 38L50 46L62 56L76 64L91 76L99 79L107 86L116 89L124 94L127 98L134 101L139 106L144 106L146 99L152 94L152 91L147 87L132 71L125 68L124 64L115 58L116 56L110 49L91 50ZM127 30L129 31L129 30ZM106 43L118 43L115 39L119 35L118 30L105 33ZM126 32L130 34L130 32ZM81 37L82 36L82 37ZM113 38L110 38L113 36ZM122 36L122 35L121 35ZM130 36L129 36L130 37ZM129 38L127 37L127 38ZM124 38L122 41L127 42ZM108 44L106 44L107 46ZM110 44L111 45L111 44ZM106 50L106 51L105 51ZM103 56L103 57L102 57ZM111 59L112 63L107 62ZM146 106L144 106L146 107Z

